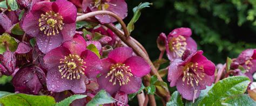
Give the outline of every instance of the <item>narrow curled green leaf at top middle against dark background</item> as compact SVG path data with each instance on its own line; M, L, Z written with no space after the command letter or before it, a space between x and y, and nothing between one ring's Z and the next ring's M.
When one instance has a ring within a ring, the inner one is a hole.
M134 30L134 23L137 22L137 20L140 17L140 14L141 14L140 10L142 10L143 8L150 7L149 5L152 5L152 3L149 3L149 2L140 3L138 6L136 6L135 8L132 9L134 15L133 15L130 23L127 25L127 30L129 32L132 32Z

